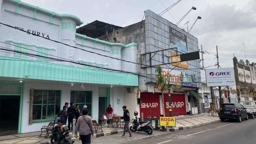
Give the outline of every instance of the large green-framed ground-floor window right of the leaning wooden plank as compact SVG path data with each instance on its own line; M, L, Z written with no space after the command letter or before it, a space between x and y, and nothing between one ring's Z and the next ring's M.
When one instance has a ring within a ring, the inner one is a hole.
M60 90L34 90L33 122L53 120L60 112Z

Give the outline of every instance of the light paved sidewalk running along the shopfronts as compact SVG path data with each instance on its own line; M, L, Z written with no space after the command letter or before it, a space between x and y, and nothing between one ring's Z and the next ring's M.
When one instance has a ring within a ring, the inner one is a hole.
M190 127L200 126L207 123L212 123L219 121L219 117L216 116L207 116L207 114L200 114L200 115L193 115L193 116L179 116L176 117L176 127L173 127L170 131L179 131ZM98 130L98 133L94 135L93 139L97 139L98 137L108 136L108 135L115 135L120 134L123 130L119 128L107 128L106 126L103 127L103 133ZM25 133L25 134L17 134L17 135L7 135L7 136L0 136L0 144L13 144L13 143L43 143L49 142L49 138L44 138L44 136L39 137L41 132L32 132L32 133ZM141 132L143 133L143 132ZM160 135L165 133L164 131L153 131L153 135ZM71 133L72 134L72 133ZM146 134L146 133L145 133ZM119 136L119 135L118 135ZM147 137L149 135L145 135ZM112 136L111 136L112 137ZM75 141L79 141L79 138L72 138ZM95 140L93 140L95 141ZM97 141L97 140L96 140ZM79 142L78 142L79 143Z

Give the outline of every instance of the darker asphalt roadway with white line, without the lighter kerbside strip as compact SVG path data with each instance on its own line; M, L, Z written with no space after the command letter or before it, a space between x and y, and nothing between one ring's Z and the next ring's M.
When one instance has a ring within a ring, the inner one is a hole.
M256 119L215 122L187 130L139 139L142 144L241 144L256 143Z

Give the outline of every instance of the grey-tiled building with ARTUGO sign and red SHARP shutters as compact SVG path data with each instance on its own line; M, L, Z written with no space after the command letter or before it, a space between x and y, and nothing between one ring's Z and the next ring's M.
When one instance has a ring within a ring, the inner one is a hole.
M145 20L124 28L118 28L110 34L98 37L98 39L123 44L131 42L138 44L137 53L131 55L135 56L136 63L141 63L141 65L136 65L135 71L143 76L139 76L138 88L127 88L134 89L134 93L129 93L133 98L127 99L125 103L132 111L138 111L140 115L143 113L144 118L149 115L152 117L168 116L168 94L166 91L162 96L160 95L161 92L157 90L154 65L172 61L171 55L173 53L179 55L198 51L198 39L151 10L145 10ZM173 49L170 50L170 48ZM159 50L165 51L163 53L156 52L151 57L149 55L141 56ZM122 55L124 58L128 58L130 53L122 53ZM125 64L126 62L122 63ZM148 67L144 68L144 66ZM199 59L185 62L183 66L176 67L174 64L165 64L162 67L164 74L170 73L172 75L172 82L180 82L181 74L184 76L183 88L173 89L171 104L173 116L188 114L190 107L200 109L198 104L202 97L196 91L195 93L190 92L201 88ZM129 67L126 67L126 70L128 69ZM191 103L194 100L195 104Z

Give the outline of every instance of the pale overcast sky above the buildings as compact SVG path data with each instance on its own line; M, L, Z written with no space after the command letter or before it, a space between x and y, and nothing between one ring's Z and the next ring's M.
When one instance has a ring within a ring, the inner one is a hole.
M22 1L56 13L76 15L84 24L99 20L122 27L141 21L146 9L155 13L165 9L159 0ZM176 1L161 0L165 7ZM192 10L179 26L187 29L186 21L190 21L190 27L196 17L201 16L190 33L206 51L216 52L218 45L219 53L244 55L244 42L246 55L256 55L256 0L182 0L169 10L175 20L169 13L163 17L176 23L192 6L197 10ZM205 54L204 59L205 66L215 64L214 55ZM250 63L256 62L256 58L247 59ZM233 67L232 57L219 56L219 62L221 67Z

